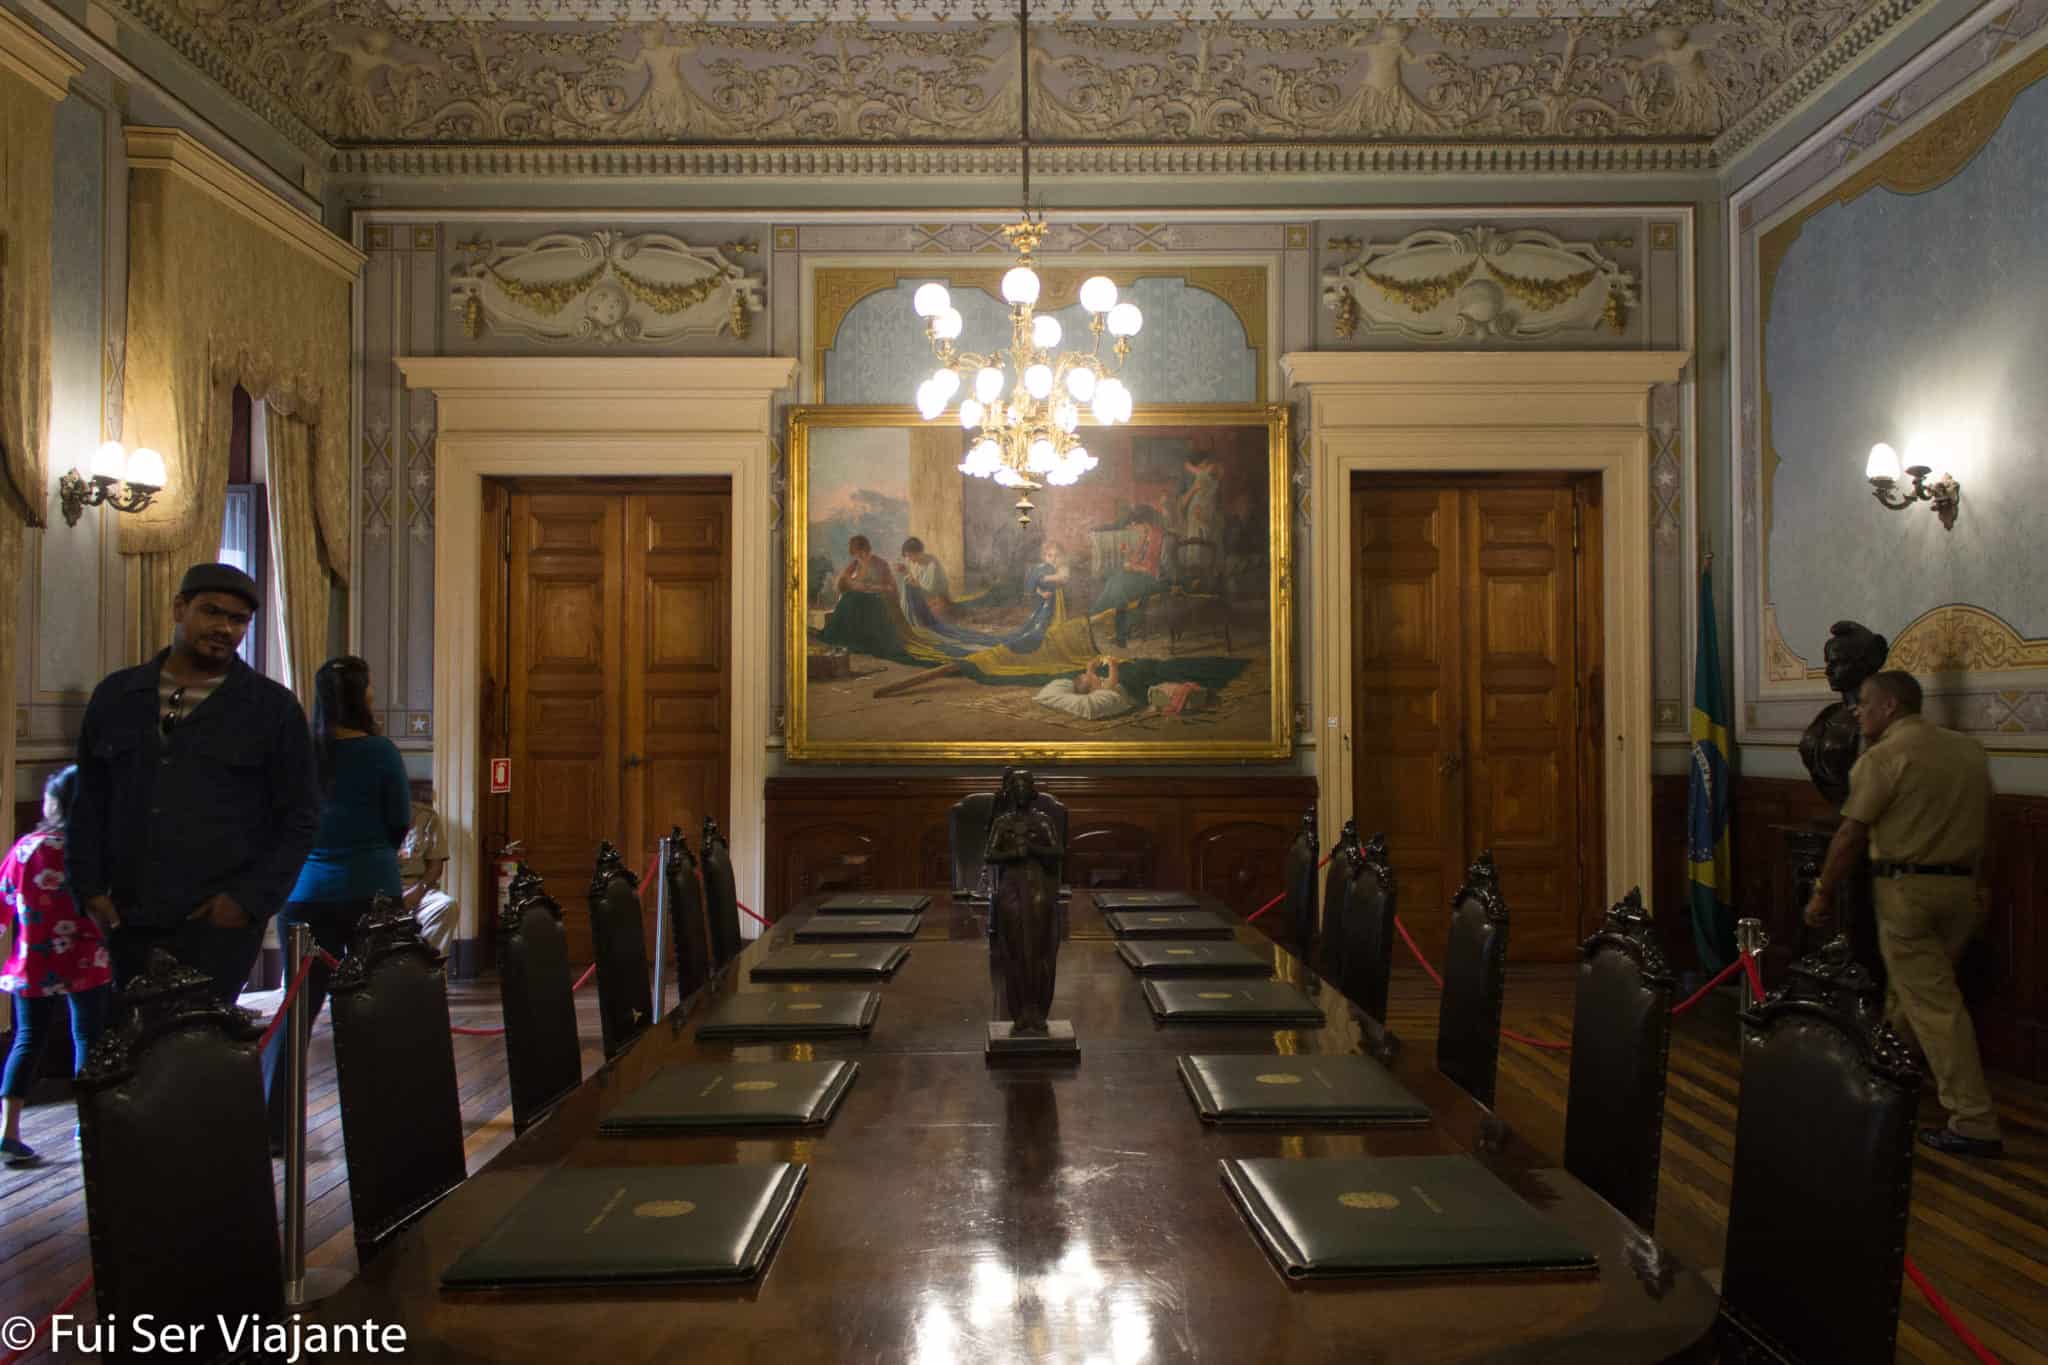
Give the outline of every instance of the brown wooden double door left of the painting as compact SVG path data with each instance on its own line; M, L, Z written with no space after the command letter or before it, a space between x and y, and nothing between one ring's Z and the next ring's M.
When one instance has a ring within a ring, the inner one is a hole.
M727 821L729 546L723 487L535 481L506 497L506 833L561 902L571 960L590 958L598 843L645 874L670 827L694 847L707 814Z

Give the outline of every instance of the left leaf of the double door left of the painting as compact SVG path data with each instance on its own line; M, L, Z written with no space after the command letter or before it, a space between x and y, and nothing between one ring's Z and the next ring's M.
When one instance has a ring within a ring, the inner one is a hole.
M586 888L618 829L621 516L616 497L512 495L512 837L590 958Z

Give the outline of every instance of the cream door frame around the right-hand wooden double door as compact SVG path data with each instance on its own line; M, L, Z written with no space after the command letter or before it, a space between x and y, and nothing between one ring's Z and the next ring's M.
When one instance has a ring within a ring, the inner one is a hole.
M1583 471L1602 483L1608 900L1651 898L1651 385L1692 352L1296 352L1313 471L1319 823L1352 819L1352 475ZM1673 604L1673 610L1683 610ZM1370 831L1360 831L1370 833Z

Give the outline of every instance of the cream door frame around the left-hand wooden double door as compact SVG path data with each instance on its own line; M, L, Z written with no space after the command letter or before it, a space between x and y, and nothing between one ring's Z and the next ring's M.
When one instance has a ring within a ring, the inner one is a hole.
M434 804L459 937L477 937L483 479L723 475L733 489L731 841L739 898L760 905L768 769L770 403L797 362L748 358L399 356L430 389L434 436ZM520 782L524 774L512 774Z

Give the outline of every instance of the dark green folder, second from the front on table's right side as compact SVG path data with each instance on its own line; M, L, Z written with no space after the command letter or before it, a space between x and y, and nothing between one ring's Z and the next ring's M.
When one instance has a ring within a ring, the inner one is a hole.
M1180 1078L1208 1124L1430 1121L1430 1105L1362 1056L1184 1056Z

